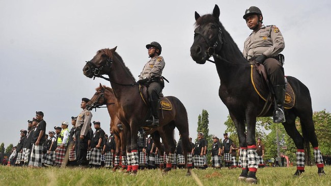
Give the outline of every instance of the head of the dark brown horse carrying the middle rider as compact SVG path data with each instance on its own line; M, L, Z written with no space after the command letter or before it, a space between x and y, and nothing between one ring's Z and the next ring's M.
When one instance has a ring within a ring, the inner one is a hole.
M105 48L97 51L97 54L93 59L86 62L86 65L83 68L84 75L92 78L93 76L99 77L103 74L109 73L113 63L113 53L116 48L117 46L112 49Z

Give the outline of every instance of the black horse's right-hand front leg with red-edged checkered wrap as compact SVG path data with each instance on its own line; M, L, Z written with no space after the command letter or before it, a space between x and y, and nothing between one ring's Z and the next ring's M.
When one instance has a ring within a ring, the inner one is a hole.
M258 168L258 154L256 153L255 141L255 126L256 126L256 113L254 109L247 108L246 112L247 123L247 158L249 174L247 175L246 182L257 183L256 171Z

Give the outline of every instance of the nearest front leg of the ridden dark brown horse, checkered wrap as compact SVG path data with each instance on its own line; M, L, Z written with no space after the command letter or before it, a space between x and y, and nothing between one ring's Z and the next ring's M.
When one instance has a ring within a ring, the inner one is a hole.
M136 121L130 122L130 135L131 135L131 145L128 156L130 156L130 163L132 165L132 175L136 175L139 168L139 156L138 156L138 126ZM129 151L128 151L129 152Z

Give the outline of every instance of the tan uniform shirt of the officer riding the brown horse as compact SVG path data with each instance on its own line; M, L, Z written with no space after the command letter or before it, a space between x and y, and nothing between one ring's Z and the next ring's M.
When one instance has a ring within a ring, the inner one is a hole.
M164 68L164 59L162 56L157 56L150 59L144 66L143 71L139 75L139 79L150 79L152 76L162 76Z

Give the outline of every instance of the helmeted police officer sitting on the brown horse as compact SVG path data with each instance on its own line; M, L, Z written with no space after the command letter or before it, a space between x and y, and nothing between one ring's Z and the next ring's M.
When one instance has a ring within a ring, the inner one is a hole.
M159 93L164 87L162 70L165 63L164 59L159 56L162 47L158 42L153 41L147 44L146 48L151 59L145 64L143 71L140 73L138 83L148 86L152 115L146 120L147 126L158 126Z

